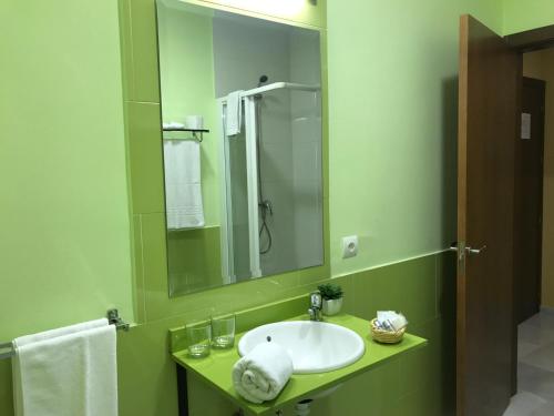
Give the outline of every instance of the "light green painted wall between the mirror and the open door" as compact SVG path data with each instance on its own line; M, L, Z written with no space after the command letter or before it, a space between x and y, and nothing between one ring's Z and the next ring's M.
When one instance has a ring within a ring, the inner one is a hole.
M501 30L493 1L343 6L329 1L327 22L334 275L455 240L459 18ZM342 260L351 234L358 256Z

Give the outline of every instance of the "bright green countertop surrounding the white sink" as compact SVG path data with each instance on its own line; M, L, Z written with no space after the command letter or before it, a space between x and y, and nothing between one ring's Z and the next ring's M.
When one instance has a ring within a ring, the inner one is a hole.
M307 315L296 316L286 321L307 321ZM237 334L235 347L220 351L212 349L209 356L205 358L191 358L186 349L173 354L173 359L195 373L199 378L207 382L228 399L252 415L269 415L276 409L302 398L309 398L317 393L340 384L357 374L377 367L389 359L396 358L399 354L424 346L427 341L414 335L404 334L401 343L394 345L383 345L376 343L369 335L369 322L352 315L339 314L337 316L325 317L325 322L342 325L358 333L366 343L363 356L356 363L343 368L319 374L294 374L280 394L271 402L256 405L244 400L237 395L233 387L230 377L233 365L240 358L238 355L238 341L245 333Z

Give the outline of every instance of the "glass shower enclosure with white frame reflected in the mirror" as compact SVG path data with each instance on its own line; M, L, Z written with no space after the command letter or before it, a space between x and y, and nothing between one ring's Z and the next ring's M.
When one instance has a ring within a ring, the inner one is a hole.
M274 82L240 100L236 135L218 100L225 283L324 262L320 87Z

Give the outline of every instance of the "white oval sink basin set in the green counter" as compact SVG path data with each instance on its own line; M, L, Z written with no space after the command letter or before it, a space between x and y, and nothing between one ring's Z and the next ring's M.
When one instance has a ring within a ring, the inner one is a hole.
M260 343L277 343L293 359L295 374L325 373L357 362L366 351L363 339L343 326L327 322L291 321L258 326L238 343L244 356Z

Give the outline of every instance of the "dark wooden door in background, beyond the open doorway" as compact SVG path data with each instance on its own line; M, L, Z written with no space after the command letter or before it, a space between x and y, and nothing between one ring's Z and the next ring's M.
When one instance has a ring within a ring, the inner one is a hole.
M515 142L514 272L517 323L538 313L542 275L543 152L546 83L523 78Z

